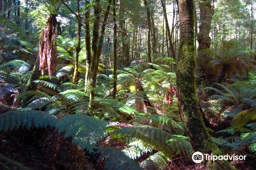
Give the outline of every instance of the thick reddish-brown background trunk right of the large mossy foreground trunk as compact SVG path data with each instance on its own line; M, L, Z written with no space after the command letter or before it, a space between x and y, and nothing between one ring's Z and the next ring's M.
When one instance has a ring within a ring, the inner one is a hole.
M213 15L213 6L211 5L211 0L202 0L199 1L200 9L200 25L198 33L198 64L201 67L202 71L208 73L208 62L209 55L200 52L202 49L209 49L211 45L211 38L209 37L212 15Z

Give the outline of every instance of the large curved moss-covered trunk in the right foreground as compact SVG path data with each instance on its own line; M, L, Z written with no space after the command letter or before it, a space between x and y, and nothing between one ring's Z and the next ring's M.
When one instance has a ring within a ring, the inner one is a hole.
M179 0L179 17L181 31L176 70L179 114L195 151L222 155L203 123L197 103L193 0ZM228 161L204 161L207 169L235 169Z

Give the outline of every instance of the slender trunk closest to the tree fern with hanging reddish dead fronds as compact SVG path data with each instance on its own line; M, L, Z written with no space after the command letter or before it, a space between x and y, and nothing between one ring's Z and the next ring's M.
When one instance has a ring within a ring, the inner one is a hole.
M77 20L81 20L80 17L80 7L79 7L80 0L77 0L77 13L78 17ZM73 80L72 83L76 84L77 83L77 75L78 75L78 58L79 58L79 52L81 50L80 46L80 41L81 41L81 24L80 22L77 21L77 47L76 47L76 58L75 58L75 70L74 70L74 75L73 75Z

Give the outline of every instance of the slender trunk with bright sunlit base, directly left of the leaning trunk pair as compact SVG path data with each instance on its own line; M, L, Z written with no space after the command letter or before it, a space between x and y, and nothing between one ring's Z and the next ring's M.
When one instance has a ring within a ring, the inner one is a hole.
M92 54L91 54L91 35L90 35L90 7L87 7L90 2L89 0L85 1L85 6L86 6L86 12L85 12L85 31L84 31L84 36L85 36L85 50L86 50L86 73L85 73L85 91L87 89L87 84L88 84L88 79L89 79L89 72L90 72L90 66L91 66L91 59L92 59Z

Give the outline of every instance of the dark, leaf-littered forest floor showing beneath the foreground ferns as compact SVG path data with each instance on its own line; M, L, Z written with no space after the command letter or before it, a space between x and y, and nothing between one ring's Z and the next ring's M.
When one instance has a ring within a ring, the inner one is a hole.
M120 127L131 126L121 122ZM112 143L112 146L123 148L121 141ZM104 169L104 162L98 162L97 158L86 156L85 152L72 145L72 138L64 139L63 134L58 134L54 128L34 128L30 131L20 128L18 131L0 131L0 153L12 160L20 162L30 169L35 170L93 170ZM141 162L150 154L144 154L136 161ZM254 170L253 162L232 162L237 169ZM8 165L8 164L7 164ZM17 167L9 168L17 169ZM148 167L147 169L152 169ZM170 162L167 170L204 170L202 164L195 164L189 158L180 157Z

